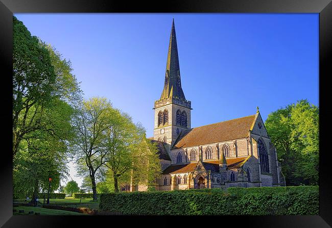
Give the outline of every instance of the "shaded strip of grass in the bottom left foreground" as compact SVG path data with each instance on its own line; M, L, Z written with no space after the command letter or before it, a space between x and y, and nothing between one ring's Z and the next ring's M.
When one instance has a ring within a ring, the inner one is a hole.
M86 215L78 212L53 210L53 209L39 208L39 207L18 206L18 207L13 207L13 209L17 210L17 212L13 212L13 215L29 215L29 211L33 211L34 213L39 212L40 215ZM24 210L24 213L18 213L19 210Z

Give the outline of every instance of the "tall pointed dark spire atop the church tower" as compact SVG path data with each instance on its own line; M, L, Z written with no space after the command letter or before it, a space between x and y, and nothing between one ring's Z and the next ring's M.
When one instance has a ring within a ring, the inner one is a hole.
M169 51L166 64L165 82L160 99L177 97L185 99L181 87L180 65L178 56L178 47L176 43L174 18L170 36Z

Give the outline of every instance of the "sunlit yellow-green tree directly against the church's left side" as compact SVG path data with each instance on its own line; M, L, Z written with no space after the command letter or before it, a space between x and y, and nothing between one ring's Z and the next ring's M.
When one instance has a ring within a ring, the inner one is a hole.
M161 170L156 146L146 139L145 129L134 124L128 114L122 113L117 119L106 130L105 140L108 151L105 165L111 170L114 191L118 192L120 180L129 183L131 177L137 179L137 173L151 184Z

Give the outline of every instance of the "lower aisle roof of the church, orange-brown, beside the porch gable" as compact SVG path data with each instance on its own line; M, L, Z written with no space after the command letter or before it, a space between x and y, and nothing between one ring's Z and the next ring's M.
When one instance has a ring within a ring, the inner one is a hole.
M249 159L248 157L242 158L228 158L226 159L227 168L240 168L243 164ZM179 164L179 165L171 165L167 167L162 174L170 174L170 173L183 173L183 172L193 172L196 168L198 162L192 162L188 164ZM219 161L207 161L202 162L204 168L206 170L211 170L211 172L219 172Z

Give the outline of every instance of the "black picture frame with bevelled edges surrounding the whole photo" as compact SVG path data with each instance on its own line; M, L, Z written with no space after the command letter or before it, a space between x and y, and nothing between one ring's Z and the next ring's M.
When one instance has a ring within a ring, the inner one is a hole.
M328 101L331 95L332 3L331 0L186 0L186 1L111 1L111 0L0 0L0 56L2 59L2 122L5 123L1 155L0 225L4 227L66 227L94 225L218 225L258 227L330 227L332 224L332 189L328 140ZM320 212L317 216L13 216L12 215L12 139L10 106L12 96L12 15L13 13L319 13L319 103L320 103ZM322 105L321 105L322 104ZM325 134L324 134L325 133ZM165 218L167 217L167 218Z

